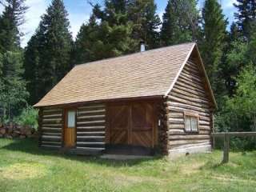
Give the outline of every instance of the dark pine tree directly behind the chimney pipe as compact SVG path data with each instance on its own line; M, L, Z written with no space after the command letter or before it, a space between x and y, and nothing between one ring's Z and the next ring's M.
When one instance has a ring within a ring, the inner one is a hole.
M132 37L137 42L145 42L147 49L153 49L160 44L160 35L158 29L161 20L156 13L157 6L154 0L132 0L128 1L128 15L131 22L134 23ZM135 50L138 46L135 46Z

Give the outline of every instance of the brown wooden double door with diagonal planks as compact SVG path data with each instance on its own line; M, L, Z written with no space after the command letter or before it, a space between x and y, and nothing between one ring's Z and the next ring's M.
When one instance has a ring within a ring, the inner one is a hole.
M126 102L108 108L110 144L154 147L156 118L151 102Z

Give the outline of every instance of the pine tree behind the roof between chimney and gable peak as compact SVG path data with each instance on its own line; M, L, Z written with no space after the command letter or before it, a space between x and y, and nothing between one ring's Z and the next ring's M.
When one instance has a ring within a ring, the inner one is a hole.
M162 16L162 45L170 46L198 38L197 1L169 0Z

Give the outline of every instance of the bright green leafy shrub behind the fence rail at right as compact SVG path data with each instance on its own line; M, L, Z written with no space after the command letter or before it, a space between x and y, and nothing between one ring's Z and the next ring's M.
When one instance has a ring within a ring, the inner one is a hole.
M237 90L231 98L223 98L221 111L215 117L215 131L256 131L256 67L243 68L236 78ZM234 150L255 149L255 138L231 138Z

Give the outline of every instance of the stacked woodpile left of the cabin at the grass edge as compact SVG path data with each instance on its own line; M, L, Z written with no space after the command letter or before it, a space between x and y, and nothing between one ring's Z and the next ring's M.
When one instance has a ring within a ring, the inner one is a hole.
M19 126L14 123L0 123L0 138L32 138L37 137L37 131L30 126Z

